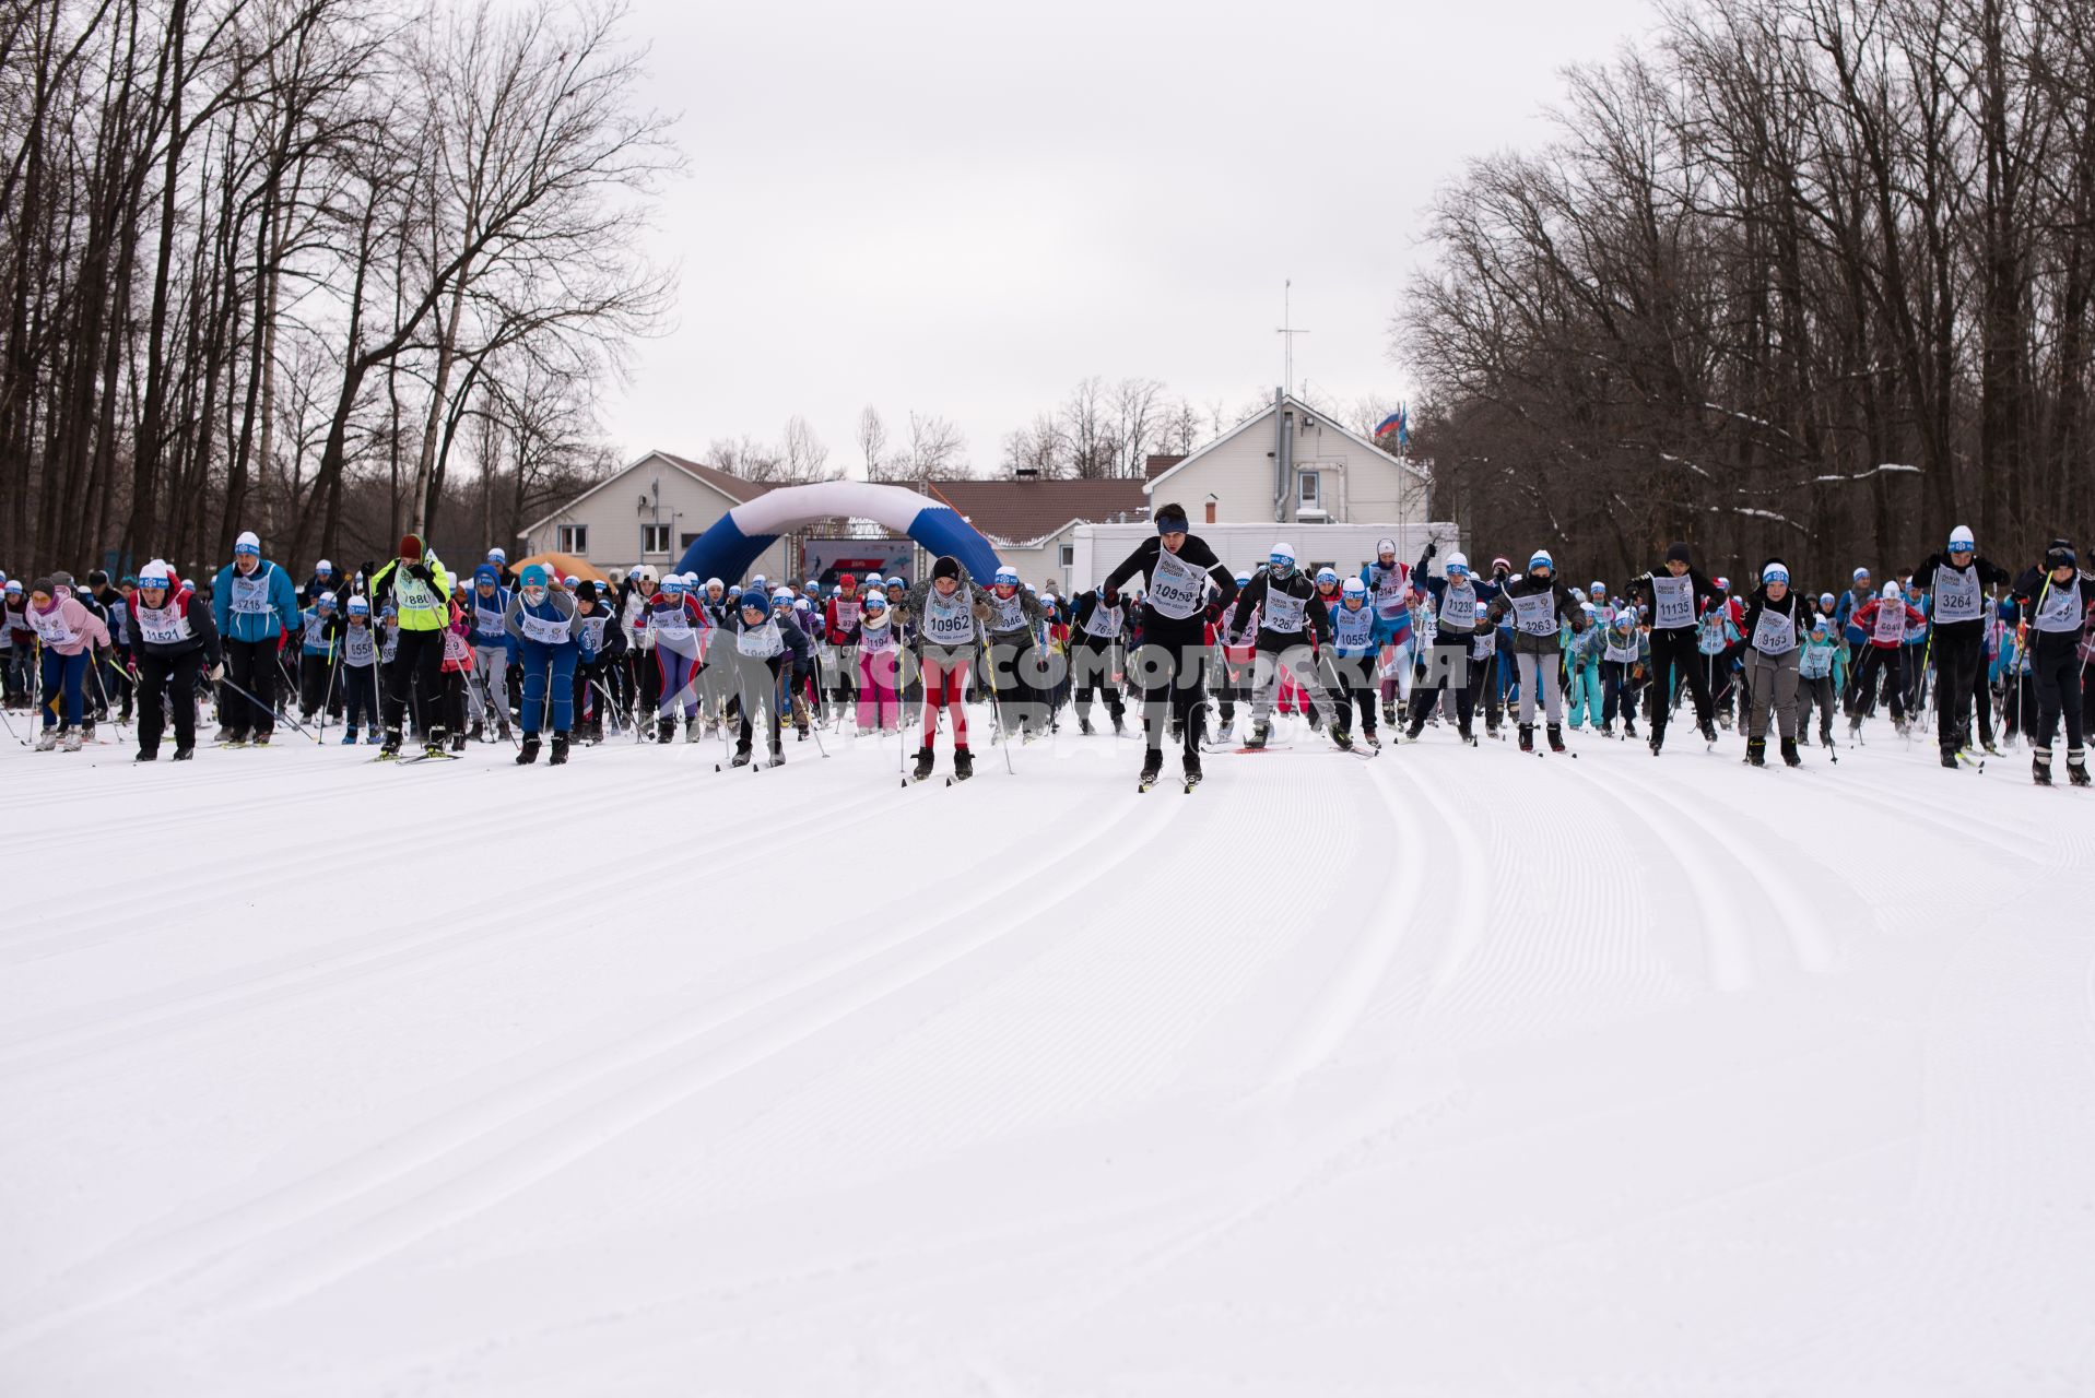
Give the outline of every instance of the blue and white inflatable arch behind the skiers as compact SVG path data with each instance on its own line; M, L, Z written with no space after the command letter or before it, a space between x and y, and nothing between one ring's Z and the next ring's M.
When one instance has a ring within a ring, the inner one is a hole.
M960 559L968 576L985 588L997 571L997 550L951 504L939 504L905 486L872 481L817 481L767 490L748 504L727 511L719 523L691 540L677 571L733 582L779 534L817 519L872 519L901 529L932 557L949 553Z

